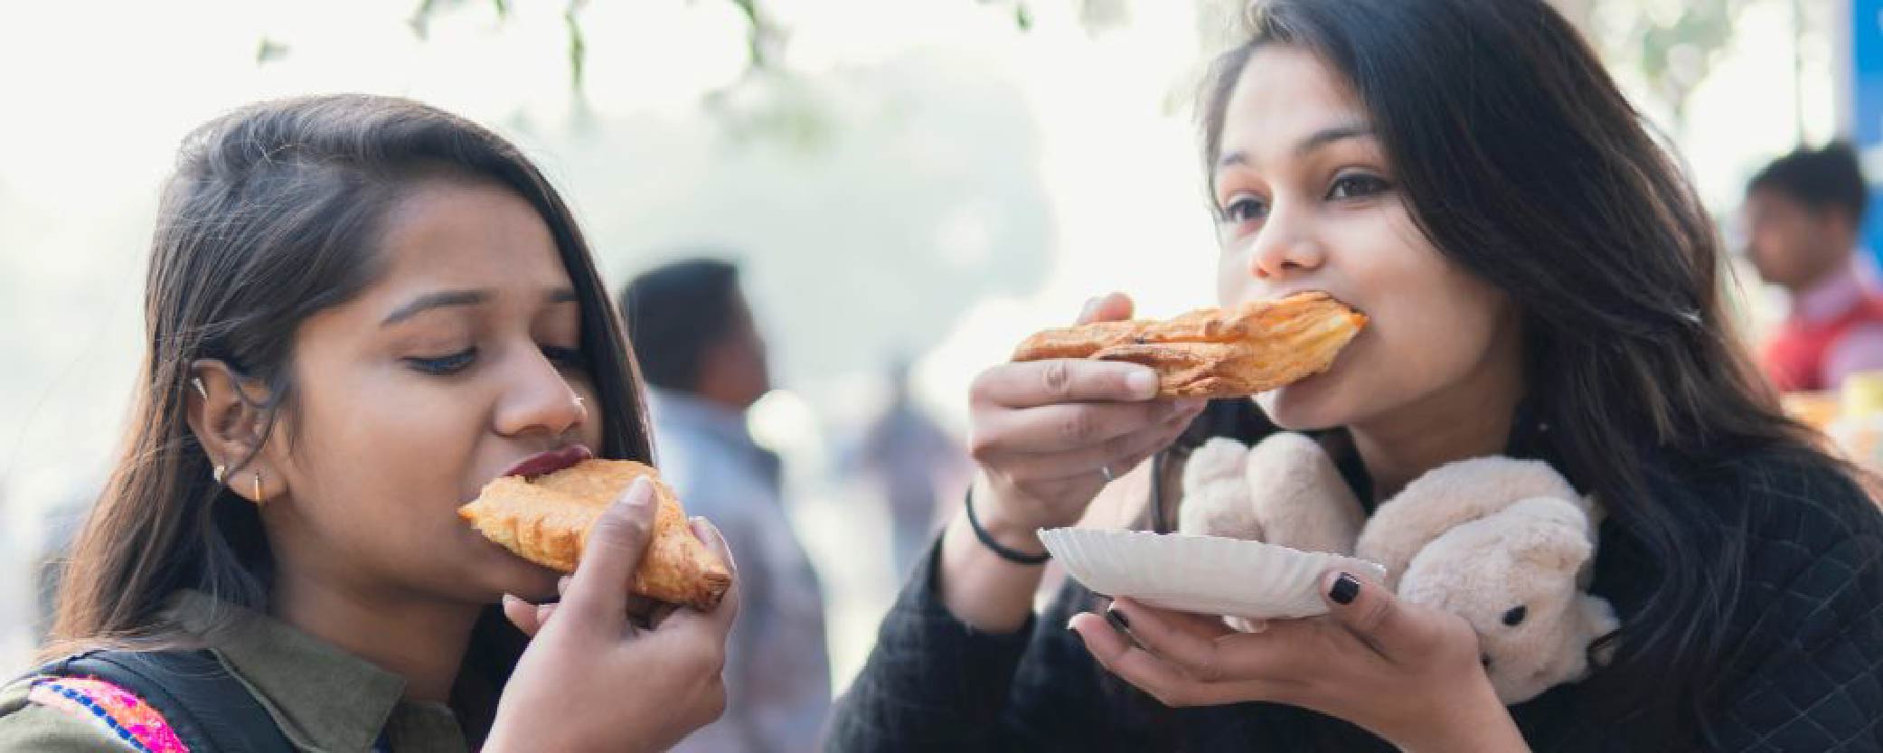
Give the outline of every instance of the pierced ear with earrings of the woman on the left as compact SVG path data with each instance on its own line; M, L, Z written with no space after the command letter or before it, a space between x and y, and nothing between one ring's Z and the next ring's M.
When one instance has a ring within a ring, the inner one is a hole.
M267 393L245 384L228 363L213 358L190 363L185 390L186 420L209 465L222 469L222 486L250 503L284 491L284 478L262 456L267 439Z

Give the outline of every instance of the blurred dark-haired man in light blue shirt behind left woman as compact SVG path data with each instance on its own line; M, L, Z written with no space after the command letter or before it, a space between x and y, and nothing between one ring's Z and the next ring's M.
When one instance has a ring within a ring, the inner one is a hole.
M815 749L830 710L823 591L785 516L781 463L746 429L772 380L738 267L655 267L621 290L621 316L650 386L661 473L687 512L719 525L740 569L725 717L676 751Z

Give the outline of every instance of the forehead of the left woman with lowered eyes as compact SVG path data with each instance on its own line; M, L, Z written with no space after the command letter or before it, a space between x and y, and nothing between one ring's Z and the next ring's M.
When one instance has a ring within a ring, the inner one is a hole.
M542 290L569 271L542 216L508 188L433 179L386 215L378 288Z

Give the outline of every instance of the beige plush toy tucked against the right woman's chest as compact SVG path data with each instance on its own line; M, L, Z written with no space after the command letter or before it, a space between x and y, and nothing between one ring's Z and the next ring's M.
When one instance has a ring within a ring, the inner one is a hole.
M1540 461L1439 467L1371 520L1320 444L1294 433L1254 448L1213 439L1183 484L1183 533L1352 553L1386 565L1403 601L1465 617L1506 704L1584 678L1589 644L1617 627L1608 602L1584 593L1597 510Z

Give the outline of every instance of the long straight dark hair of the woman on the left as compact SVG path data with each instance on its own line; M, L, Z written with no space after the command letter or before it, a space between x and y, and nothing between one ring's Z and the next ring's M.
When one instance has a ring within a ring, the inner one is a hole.
M587 243L561 196L514 145L399 98L249 105L190 134L164 188L145 280L149 350L130 427L73 544L49 653L173 646L185 636L162 625L160 612L181 589L267 612L273 557L256 506L211 478L209 456L185 420L190 363L217 358L264 384L260 409L273 429L296 405L296 329L377 279L386 213L416 183L437 177L491 183L537 209L580 301L582 350L601 401L601 454L652 456L638 375ZM522 634L486 610L463 674L497 689L522 646ZM461 710L471 713L469 730L493 713L495 695L480 695L488 704Z

